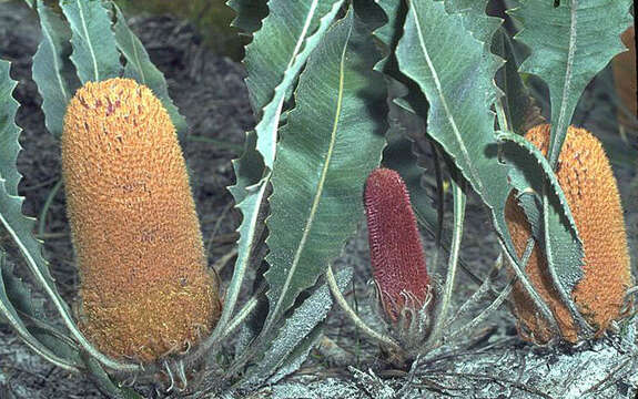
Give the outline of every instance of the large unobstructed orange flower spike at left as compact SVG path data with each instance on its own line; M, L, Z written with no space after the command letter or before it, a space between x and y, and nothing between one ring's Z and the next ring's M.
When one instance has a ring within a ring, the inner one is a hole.
M114 358L188 350L221 303L166 110L132 80L87 83L69 103L61 145L81 329Z

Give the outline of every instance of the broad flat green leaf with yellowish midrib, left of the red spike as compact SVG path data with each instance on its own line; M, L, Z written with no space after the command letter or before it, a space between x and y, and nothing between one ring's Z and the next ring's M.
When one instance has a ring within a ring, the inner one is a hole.
M300 78L297 106L282 129L266 221L266 331L354 233L365 178L381 160L385 86L372 71L374 43L358 27L350 11L330 29Z

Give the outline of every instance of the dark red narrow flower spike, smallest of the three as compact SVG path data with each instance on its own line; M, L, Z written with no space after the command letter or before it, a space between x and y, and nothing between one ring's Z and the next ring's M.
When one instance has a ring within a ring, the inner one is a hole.
M396 323L406 307L421 309L429 277L405 183L395 171L374 170L365 186L374 280L386 315Z

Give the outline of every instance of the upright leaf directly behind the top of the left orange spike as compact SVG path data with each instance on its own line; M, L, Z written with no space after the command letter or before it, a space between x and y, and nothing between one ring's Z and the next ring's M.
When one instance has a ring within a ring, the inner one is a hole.
M101 0L61 0L71 25L71 61L82 84L120 75L120 53Z

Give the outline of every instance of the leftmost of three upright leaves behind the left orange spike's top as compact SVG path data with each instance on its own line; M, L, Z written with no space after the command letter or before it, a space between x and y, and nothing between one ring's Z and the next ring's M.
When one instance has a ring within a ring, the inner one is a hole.
M42 96L44 123L49 133L59 137L62 134L67 104L79 85L77 78L69 82L72 70L71 30L43 0L37 2L42 41L33 55L33 81Z

